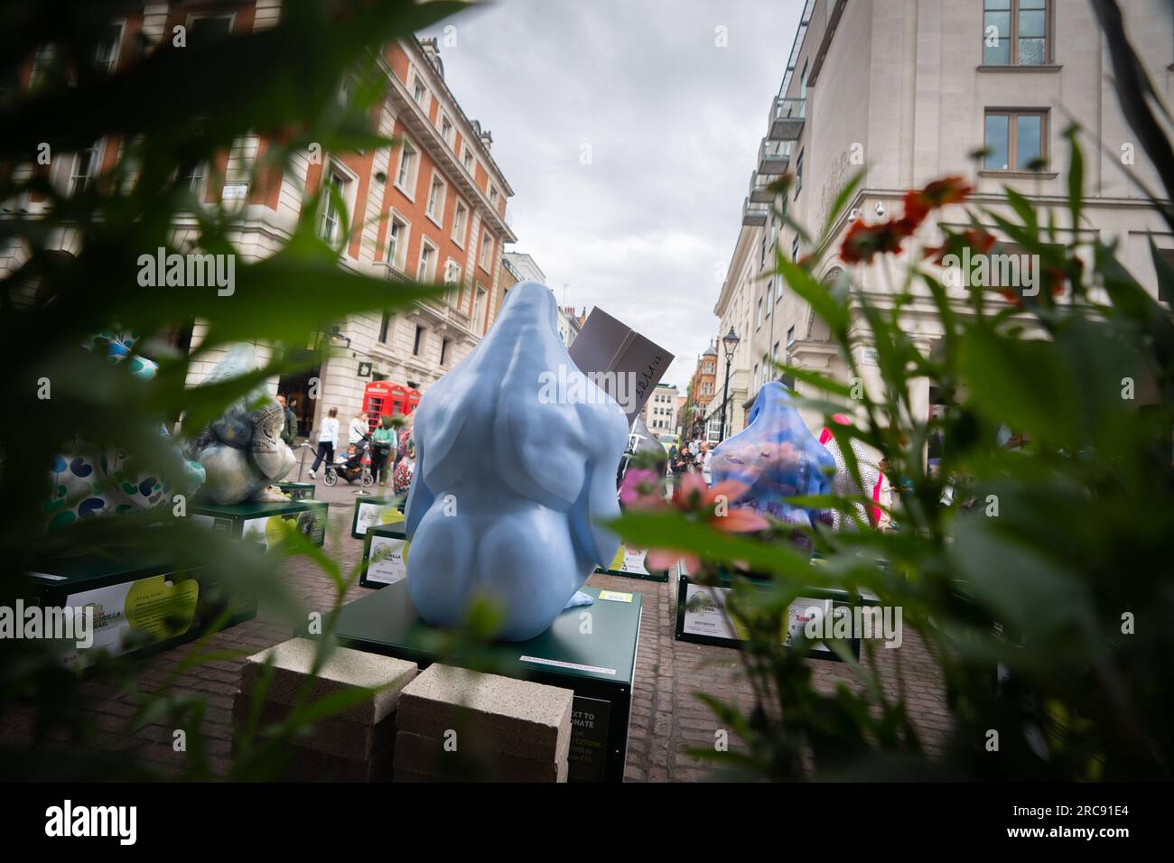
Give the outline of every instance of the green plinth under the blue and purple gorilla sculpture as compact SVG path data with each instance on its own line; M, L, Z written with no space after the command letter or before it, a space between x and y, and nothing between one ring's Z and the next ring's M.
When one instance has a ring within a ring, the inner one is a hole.
M689 578L681 568L676 589L676 640L691 641L697 645L716 645L718 647L741 647L747 640L747 633L741 625L726 613L726 596L731 591L733 581L722 577L717 585L701 585ZM748 581L760 589L767 591L771 582L767 579L750 578ZM877 605L875 596L865 596L858 605ZM832 609L844 608L849 612L855 607L846 591L825 587L807 587L803 596L797 598L788 608L784 626L781 628L780 643L790 642L795 627L803 625L803 615L811 607L828 614ZM859 659L861 641L858 638L845 639L851 653ZM841 661L830 648L823 643L811 645L805 655L812 659Z

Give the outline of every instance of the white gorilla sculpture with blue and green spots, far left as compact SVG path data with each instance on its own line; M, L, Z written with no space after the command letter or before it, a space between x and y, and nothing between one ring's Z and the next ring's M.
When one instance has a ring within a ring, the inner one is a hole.
M158 366L131 352L137 338L134 332L100 332L82 346L92 352L104 352L110 363L124 363L134 377L150 380ZM160 423L158 433L170 437L163 423ZM175 491L191 494L203 481L203 466L185 461L184 474L177 479ZM157 473L136 470L133 458L123 450L77 440L73 454L54 459L53 494L43 503L49 517L48 530L61 530L82 518L168 505L171 491L171 485Z

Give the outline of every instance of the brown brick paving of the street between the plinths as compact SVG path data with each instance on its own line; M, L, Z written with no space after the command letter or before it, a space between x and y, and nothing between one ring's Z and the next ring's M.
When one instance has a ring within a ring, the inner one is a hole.
M325 552L348 572L358 564L363 544L350 535L356 497L353 487L326 488L318 484L318 499L331 503L330 530ZM292 559L285 564L285 584L292 596L306 611L326 611L333 602L332 582L311 561ZM676 641L675 579L667 584L615 575L593 575L592 587L639 593L643 599L636 677L633 687L632 726L625 778L628 782L688 782L703 780L709 767L686 753L688 747L711 747L720 723L708 707L695 697L706 692L723 700L736 699L743 707L751 701L751 690L738 670L737 653L729 648ZM353 601L367 588L352 587L344 601ZM214 652L252 653L290 638L289 625L282 623L262 607L255 620L217 633L208 649ZM196 646L183 645L146 658L135 668L135 685L149 690L176 675L169 692L196 695L205 703L203 717L204 749L214 775L229 769L232 739L232 695L239 682L243 659L215 659L181 669L181 662ZM931 753L940 750L950 727L949 713L937 669L922 643L906 631L898 650L877 650L877 670L882 674L886 695L896 696L895 663L900 654L905 699L923 744ZM814 680L822 692L837 683L859 689L851 670L839 662L810 660ZM103 751L137 756L164 775L177 770L181 753L173 750L174 727L167 719L150 722L130 734L126 721L134 713L133 690L123 690L102 679L82 685L86 712L96 728L88 746ZM0 715L0 743L20 744L31 737L31 709L15 709ZM65 731L54 735L62 746L76 747ZM731 740L731 747L738 742Z

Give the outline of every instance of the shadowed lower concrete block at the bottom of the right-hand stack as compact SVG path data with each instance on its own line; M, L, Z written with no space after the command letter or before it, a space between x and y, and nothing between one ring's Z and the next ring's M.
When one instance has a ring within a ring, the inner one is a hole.
M566 782L567 760L544 763L507 753L460 747L445 750L440 737L399 731L396 737L397 771L456 782Z

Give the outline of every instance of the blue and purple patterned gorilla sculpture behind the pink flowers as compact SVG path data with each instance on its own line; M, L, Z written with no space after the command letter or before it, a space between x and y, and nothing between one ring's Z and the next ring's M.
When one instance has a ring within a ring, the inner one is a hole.
M777 380L763 385L745 429L718 444L711 460L714 485L735 480L747 486L734 505L807 527L831 517L784 498L830 493L835 467L831 453L791 405L790 391Z

